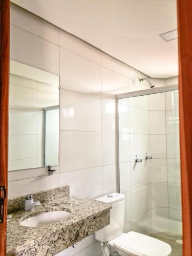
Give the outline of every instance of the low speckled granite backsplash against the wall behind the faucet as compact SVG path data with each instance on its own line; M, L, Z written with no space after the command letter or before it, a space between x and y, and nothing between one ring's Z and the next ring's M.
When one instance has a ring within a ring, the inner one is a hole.
M40 191L33 194L34 201L40 201L41 203L49 202L50 200L69 196L69 186L57 187L45 191ZM8 200L8 214L16 210L24 209L25 197L17 197Z

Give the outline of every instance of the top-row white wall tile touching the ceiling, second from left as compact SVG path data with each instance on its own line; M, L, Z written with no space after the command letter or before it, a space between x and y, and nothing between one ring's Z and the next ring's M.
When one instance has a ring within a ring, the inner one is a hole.
M101 65L100 50L63 30L60 30L60 47Z

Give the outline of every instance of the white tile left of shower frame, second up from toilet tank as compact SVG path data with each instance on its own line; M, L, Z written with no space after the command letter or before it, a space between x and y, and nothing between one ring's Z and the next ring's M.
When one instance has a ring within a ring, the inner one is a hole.
M116 133L102 133L102 165L110 165L116 163L116 139Z

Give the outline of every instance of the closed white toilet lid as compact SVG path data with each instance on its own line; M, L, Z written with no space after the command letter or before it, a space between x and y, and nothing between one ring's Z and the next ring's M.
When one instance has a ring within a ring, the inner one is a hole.
M125 253L138 256L167 256L172 252L169 244L134 231L114 239L113 246Z

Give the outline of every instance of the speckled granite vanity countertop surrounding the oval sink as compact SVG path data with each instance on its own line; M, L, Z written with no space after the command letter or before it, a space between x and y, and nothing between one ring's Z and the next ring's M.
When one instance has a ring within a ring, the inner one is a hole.
M110 205L96 201L59 195L32 211L12 212L12 218L7 223L7 255L55 255L109 225L110 208ZM31 216L52 210L69 211L71 215L63 221L40 227L19 225Z

